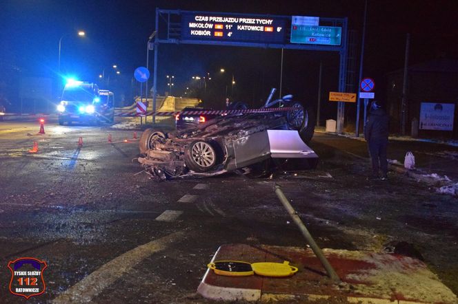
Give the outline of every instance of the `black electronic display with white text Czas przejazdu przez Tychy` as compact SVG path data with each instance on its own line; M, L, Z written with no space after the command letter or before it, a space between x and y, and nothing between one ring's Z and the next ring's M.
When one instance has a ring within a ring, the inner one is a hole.
M221 13L183 13L181 39L285 43L286 19Z

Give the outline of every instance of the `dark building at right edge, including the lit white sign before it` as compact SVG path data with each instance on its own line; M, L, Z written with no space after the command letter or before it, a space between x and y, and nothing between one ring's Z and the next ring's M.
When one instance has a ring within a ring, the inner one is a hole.
M390 131L401 133L404 69L386 75ZM406 134L418 122L419 137L458 139L458 61L438 58L408 67Z

